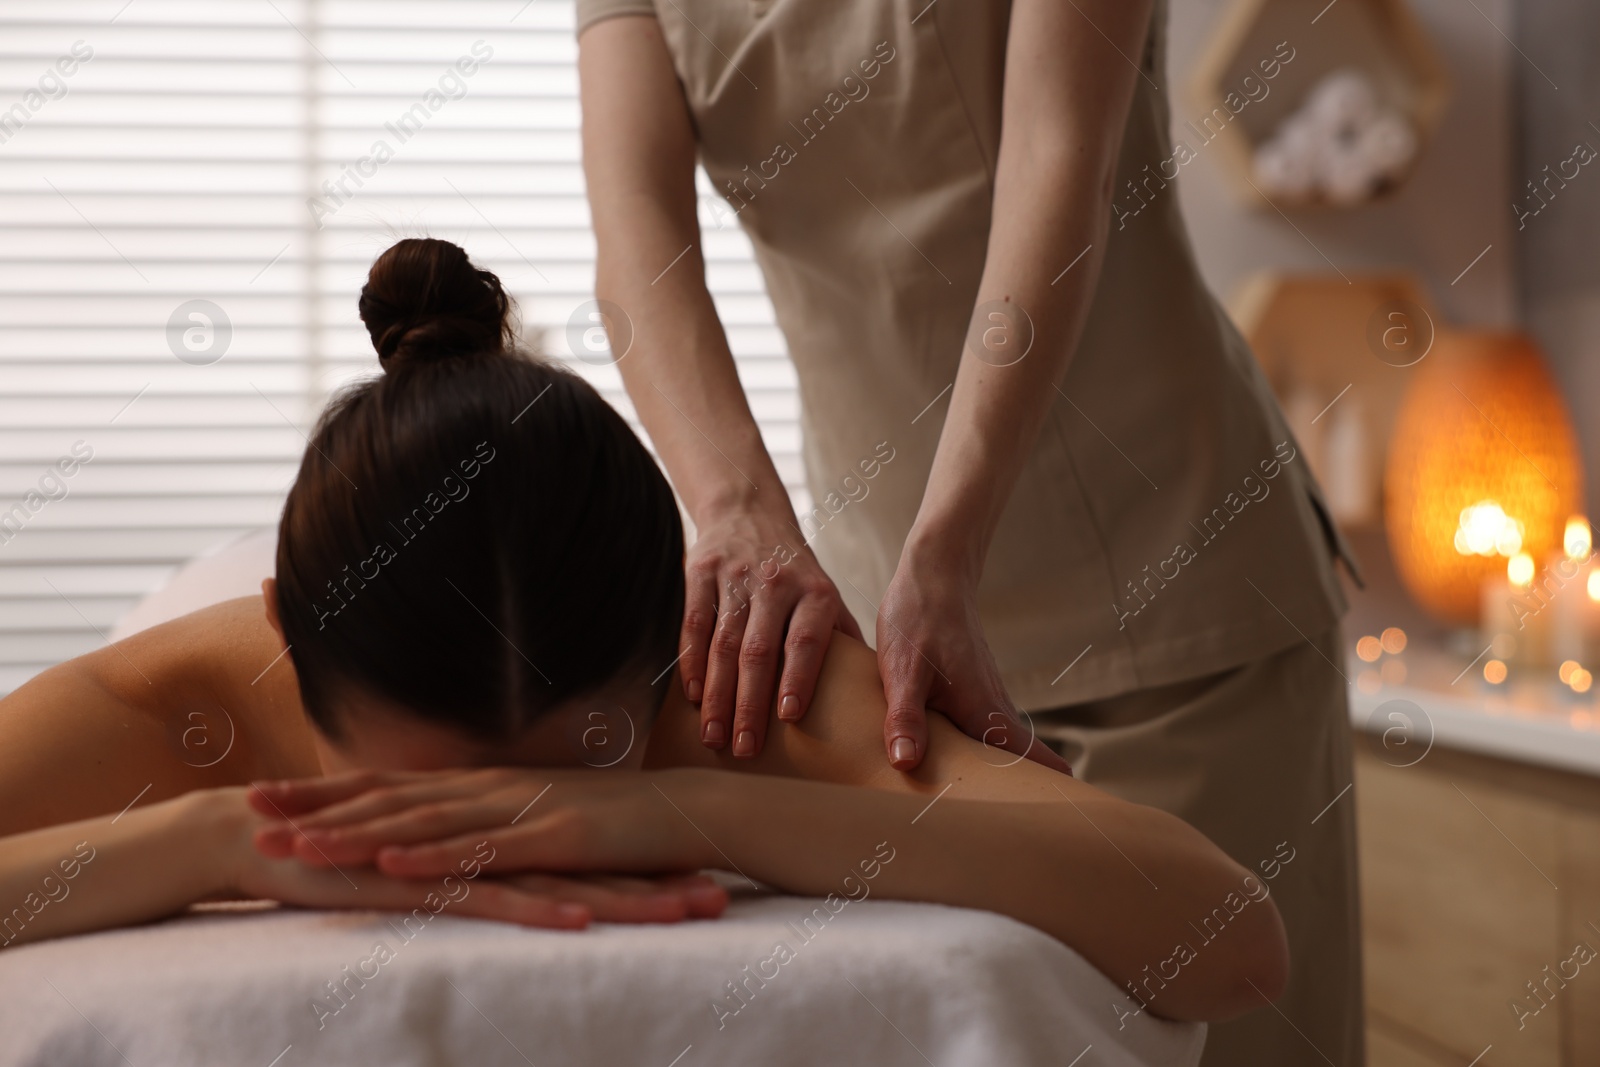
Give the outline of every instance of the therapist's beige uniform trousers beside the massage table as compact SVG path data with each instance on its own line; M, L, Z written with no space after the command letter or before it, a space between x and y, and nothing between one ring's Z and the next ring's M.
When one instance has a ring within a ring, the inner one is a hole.
M1334 627L1203 678L1032 715L1078 777L1197 827L1264 880L1283 915L1288 992L1213 1025L1203 1067L1365 1062L1342 657ZM1200 936L1192 947L1205 950Z

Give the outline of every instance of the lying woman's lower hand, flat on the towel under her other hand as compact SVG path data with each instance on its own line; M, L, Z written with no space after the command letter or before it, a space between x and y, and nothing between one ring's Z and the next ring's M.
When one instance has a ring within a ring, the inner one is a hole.
M309 779L318 781L318 779ZM261 817L272 811L264 793L243 787L213 790L208 803L230 811L222 841L230 867L229 886L251 899L272 899L301 907L326 909L424 909L430 913L493 918L522 926L582 929L590 921L674 923L714 918L726 905L726 893L699 875L622 878L606 875L560 877L514 873L501 877L504 864L482 835L450 862L410 878L374 870L347 854L318 854L302 862L293 849L256 848L256 840L282 840L283 825ZM256 808L256 811L251 811ZM275 854L274 854L275 853Z

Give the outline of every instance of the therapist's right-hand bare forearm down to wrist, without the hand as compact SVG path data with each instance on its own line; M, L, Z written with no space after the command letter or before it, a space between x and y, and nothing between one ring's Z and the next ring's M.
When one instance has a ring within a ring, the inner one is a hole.
M1109 229L1149 0L1018 0L1006 40L1000 152L974 330L989 312L1011 330L1002 358L962 352L950 411L907 552L976 581L1083 333ZM981 349L979 349L981 350ZM995 363L1006 363L998 366Z

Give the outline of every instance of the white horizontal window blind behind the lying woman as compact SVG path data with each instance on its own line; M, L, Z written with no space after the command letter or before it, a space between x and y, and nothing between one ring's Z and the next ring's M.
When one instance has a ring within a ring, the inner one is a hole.
M355 298L394 240L458 242L573 358L576 53L571 0L0 8L0 693L277 522L328 395L378 371ZM699 181L707 280L798 494L794 373ZM573 365L637 427L614 366Z

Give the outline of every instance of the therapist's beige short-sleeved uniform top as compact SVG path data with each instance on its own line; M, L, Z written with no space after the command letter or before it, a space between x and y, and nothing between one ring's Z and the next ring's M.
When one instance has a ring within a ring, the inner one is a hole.
M1010 3L578 0L579 32L613 14L659 19L755 245L800 381L802 525L870 633L984 269ZM1026 710L1243 664L1346 606L1342 542L1163 178L1165 21L1158 0L1094 302L979 587Z

